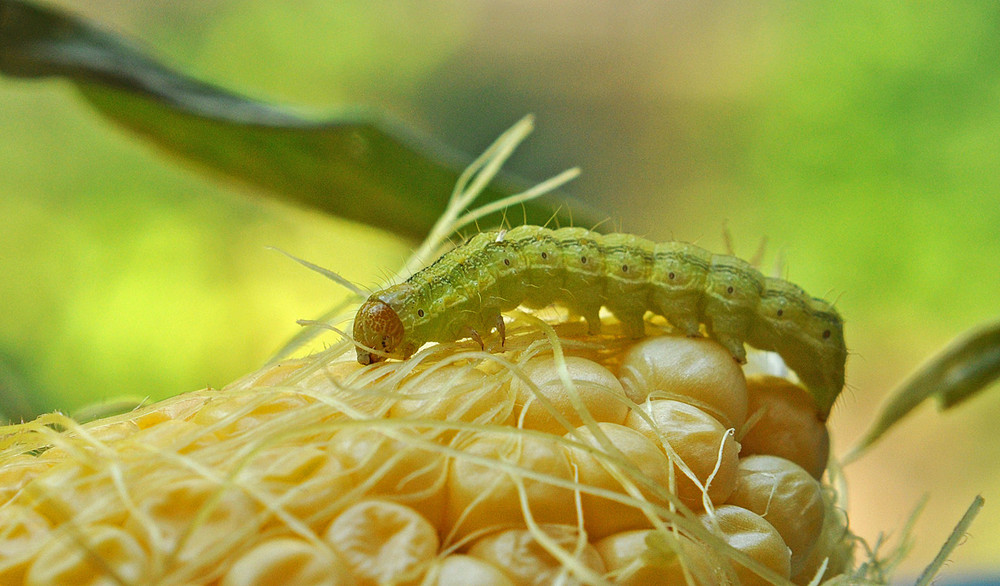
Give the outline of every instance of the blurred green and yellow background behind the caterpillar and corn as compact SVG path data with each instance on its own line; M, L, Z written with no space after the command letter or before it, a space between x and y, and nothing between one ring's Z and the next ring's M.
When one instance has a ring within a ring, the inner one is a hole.
M366 105L470 154L527 113L509 169L654 239L750 257L836 299L844 453L885 394L1000 314L1000 5L527 0L51 2L237 92ZM0 362L30 407L221 387L414 243L166 158L64 81L0 79ZM516 215L516 214L515 214ZM847 469L851 525L913 574L977 493L940 583L997 572L1000 393L923 408Z

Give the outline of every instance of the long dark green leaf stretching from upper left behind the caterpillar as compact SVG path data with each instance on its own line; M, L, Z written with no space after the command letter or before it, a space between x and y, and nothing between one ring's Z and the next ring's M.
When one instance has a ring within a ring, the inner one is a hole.
M14 0L0 0L0 72L66 77L102 114L168 152L413 239L430 230L471 160L363 109L313 120L251 100L172 71L78 18ZM501 178L483 201L526 185ZM565 197L526 202L513 215L541 224L557 210L582 225L607 217Z

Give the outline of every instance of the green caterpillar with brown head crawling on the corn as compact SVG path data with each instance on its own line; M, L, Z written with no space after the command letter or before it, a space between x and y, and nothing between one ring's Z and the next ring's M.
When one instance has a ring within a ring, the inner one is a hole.
M823 420L844 387L843 320L828 302L734 256L583 228L482 232L372 294L354 320L358 362L409 358L425 342L482 343L479 332L494 328L502 338L501 312L557 301L583 316L591 333L599 331L602 306L635 338L652 311L689 336L701 335L705 324L740 363L744 343L777 352Z

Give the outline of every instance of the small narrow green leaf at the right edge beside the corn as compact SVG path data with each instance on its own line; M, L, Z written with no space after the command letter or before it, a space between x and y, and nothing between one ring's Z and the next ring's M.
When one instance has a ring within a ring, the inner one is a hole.
M998 378L1000 321L967 332L904 381L845 462L857 459L925 399L936 397L942 411L950 409L983 391Z

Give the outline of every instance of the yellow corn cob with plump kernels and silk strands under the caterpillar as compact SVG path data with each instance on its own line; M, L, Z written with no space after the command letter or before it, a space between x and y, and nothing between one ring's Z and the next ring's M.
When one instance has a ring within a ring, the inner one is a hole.
M0 584L806 584L850 567L801 387L748 382L709 339L583 330L516 317L502 352L369 367L338 346L87 425L3 428Z

